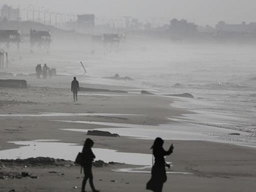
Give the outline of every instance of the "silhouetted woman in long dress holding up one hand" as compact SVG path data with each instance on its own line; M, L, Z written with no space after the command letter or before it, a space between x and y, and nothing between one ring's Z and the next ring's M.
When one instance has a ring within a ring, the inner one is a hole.
M170 155L173 151L173 145L169 147L169 150L164 150L163 148L164 140L157 137L151 147L153 149L153 155L155 157L155 164L151 169L151 178L147 182L147 190L154 192L161 192L164 183L167 181L167 172L165 166L169 165L165 162L164 156Z

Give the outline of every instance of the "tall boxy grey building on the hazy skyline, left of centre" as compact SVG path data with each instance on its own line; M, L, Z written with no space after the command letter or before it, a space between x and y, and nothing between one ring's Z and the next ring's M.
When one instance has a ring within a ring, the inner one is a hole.
M93 14L78 15L77 24L78 24L78 31L91 32L95 27L95 15Z

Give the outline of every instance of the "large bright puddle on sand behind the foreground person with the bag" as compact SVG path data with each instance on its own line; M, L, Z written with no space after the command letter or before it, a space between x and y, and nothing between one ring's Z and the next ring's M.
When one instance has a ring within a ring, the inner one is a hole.
M65 160L74 161L78 152L82 150L82 146L75 143L57 142L57 140L34 140L23 142L11 142L21 147L1 150L0 157L2 159L16 158L36 158L36 157L51 157L63 158ZM148 166L152 164L152 155L142 153L122 153L117 150L92 148L96 155L95 160L104 162L119 162L131 165Z

